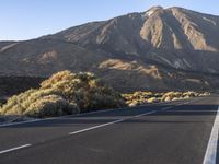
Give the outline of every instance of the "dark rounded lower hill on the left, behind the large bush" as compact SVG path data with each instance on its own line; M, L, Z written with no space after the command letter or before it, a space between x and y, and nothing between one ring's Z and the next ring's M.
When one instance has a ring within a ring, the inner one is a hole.
M0 52L1 75L48 77L60 70L92 71L104 55L71 43L35 39L16 43ZM84 63L85 61L85 63Z

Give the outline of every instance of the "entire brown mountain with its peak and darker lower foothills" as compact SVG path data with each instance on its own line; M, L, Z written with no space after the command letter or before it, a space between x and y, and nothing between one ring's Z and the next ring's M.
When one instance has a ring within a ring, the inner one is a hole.
M219 16L175 7L0 43L1 77L92 71L122 91L212 90L218 63Z

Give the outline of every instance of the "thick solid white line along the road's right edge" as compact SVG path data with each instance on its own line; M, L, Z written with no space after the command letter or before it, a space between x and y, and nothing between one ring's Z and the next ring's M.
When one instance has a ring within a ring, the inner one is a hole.
M219 129L219 106L203 164L216 164L217 148L218 148L218 129Z

